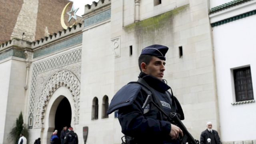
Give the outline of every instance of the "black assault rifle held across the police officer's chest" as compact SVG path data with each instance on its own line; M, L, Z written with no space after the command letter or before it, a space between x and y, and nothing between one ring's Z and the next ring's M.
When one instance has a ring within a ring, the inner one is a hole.
M169 122L175 124L182 130L183 137L179 136L178 138L181 144L186 144L186 142L188 142L188 144L199 144L199 141L193 138L193 136L188 132L186 126L184 126L184 124L181 122L178 114L171 112L169 115L167 115L155 102L153 102L152 95L147 96L146 101L143 104L142 108L146 108L146 106L150 103L154 104L154 106L156 106L156 108L158 108L158 110L160 110L162 114L166 116L166 118L168 118Z

